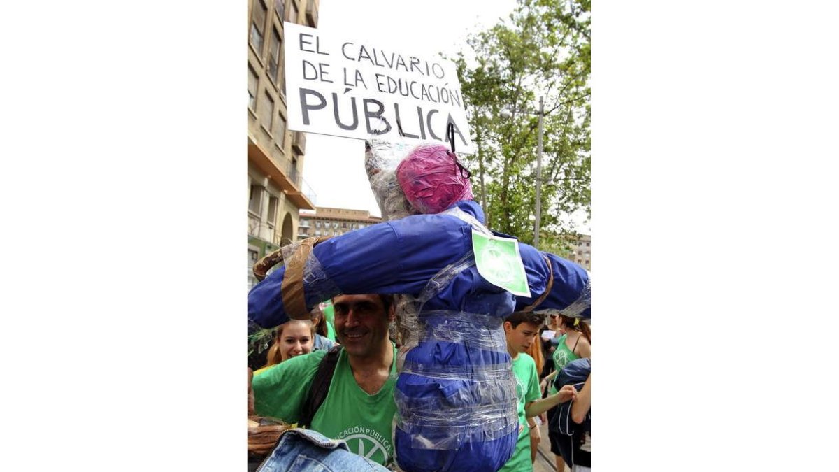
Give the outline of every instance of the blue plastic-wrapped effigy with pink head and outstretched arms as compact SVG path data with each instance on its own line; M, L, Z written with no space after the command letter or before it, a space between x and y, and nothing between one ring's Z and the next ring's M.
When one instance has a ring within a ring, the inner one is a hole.
M406 472L498 470L519 437L503 319L590 317L586 270L489 231L469 172L442 144L373 141L367 175L388 220L282 249L248 295L263 328L340 294L401 294L395 459Z

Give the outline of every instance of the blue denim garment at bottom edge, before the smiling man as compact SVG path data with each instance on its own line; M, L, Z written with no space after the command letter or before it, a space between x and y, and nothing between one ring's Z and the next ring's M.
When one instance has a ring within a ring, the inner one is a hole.
M326 438L311 429L295 427L279 439L277 447L268 454L258 472L387 472L383 465L353 454L347 443Z

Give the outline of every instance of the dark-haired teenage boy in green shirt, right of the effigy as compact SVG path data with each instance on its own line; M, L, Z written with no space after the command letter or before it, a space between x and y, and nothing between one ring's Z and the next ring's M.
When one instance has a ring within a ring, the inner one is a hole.
M530 434L526 421L528 417L537 417L553 406L576 399L576 389L565 385L554 395L541 398L539 374L533 358L525 354L539 327L545 323L545 315L533 312L515 312L504 320L504 334L507 336L507 351L513 358L513 374L516 377L516 396L519 398L519 440L503 472L532 471L530 460ZM499 471L500 472L500 471Z

